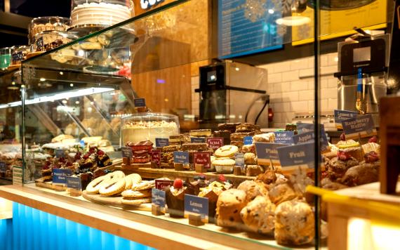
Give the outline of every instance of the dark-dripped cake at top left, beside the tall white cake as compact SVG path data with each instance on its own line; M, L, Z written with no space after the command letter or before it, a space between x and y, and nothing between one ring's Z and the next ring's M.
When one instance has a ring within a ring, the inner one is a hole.
M45 31L60 31L66 32L71 26L71 20L69 18L61 18L58 16L45 16L40 18L34 18L29 23L29 44L34 42L36 34Z

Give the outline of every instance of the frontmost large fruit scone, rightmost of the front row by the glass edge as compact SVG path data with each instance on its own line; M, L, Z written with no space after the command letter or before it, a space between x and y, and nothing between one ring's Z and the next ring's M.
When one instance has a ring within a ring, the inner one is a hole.
M314 212L305 202L276 206L274 236L278 244L308 244L314 240Z

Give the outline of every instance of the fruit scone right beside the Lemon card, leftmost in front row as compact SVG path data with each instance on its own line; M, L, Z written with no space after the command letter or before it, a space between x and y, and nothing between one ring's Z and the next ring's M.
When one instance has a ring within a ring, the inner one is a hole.
M237 189L225 190L217 201L215 217L217 225L228 228L240 228L240 212L247 204L246 192Z

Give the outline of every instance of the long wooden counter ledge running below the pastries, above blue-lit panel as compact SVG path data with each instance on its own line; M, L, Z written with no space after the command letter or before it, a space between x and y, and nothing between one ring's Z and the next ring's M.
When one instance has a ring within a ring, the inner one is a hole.
M187 225L185 218L156 217L149 211L124 211L88 202L83 197L64 195L65 191L46 190L34 184L0 187L0 197L5 199L156 249L288 249L276 244L273 237L230 232L214 224L194 227ZM302 249L314 247L302 246Z

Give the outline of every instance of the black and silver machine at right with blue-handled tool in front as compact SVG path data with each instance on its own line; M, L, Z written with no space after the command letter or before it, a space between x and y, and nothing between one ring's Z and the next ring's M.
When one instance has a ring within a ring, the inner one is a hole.
M379 126L379 100L387 93L389 34L355 35L338 44L338 110L372 114Z

